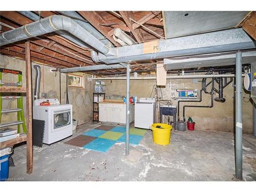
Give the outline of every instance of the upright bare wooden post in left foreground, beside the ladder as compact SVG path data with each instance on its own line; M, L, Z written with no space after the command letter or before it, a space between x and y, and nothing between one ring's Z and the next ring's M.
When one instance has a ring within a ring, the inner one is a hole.
M32 77L30 41L25 42L26 47L26 97L27 97L27 173L33 172L33 144L32 144Z

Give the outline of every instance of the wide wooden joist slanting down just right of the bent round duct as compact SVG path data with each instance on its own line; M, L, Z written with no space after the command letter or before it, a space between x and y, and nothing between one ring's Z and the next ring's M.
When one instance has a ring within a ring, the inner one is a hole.
M107 22L97 13L96 11L79 11L79 14L88 20L93 27L95 27L100 33L102 33L106 38L108 38L112 44L119 46L119 44L114 40L112 36L108 34L109 27L104 27L99 24L107 24Z

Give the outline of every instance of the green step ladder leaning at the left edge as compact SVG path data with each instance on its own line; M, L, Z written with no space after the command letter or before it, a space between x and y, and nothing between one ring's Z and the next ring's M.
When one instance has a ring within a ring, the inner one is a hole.
M10 73L14 75L18 75L18 82L3 82L2 73ZM0 86L12 86L12 87L22 87L22 71L12 70L12 69L4 69L0 68ZM19 93L19 96L2 96L0 92L0 129L8 126L18 125L18 133L20 133L20 125L23 127L23 132L27 133L27 127L24 118L24 110L23 110L23 96L22 93ZM3 99L17 99L17 108L15 109L2 109L2 101ZM1 123L2 114L7 113L16 113L17 112L17 121Z

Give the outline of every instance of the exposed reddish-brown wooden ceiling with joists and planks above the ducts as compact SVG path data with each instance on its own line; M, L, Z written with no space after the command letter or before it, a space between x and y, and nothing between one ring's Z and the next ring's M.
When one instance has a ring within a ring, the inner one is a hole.
M34 11L34 13L39 15L38 11ZM121 17L109 11L79 11L77 13L102 33L105 38L108 38L115 47L121 46L113 38L115 28L122 29L136 42L159 39L159 36L156 36L150 32L150 30L164 37L161 11L117 12ZM60 13L56 11L40 12L42 18L54 14ZM150 30L146 30L133 22L130 18ZM2 26L1 33L3 33L32 23L33 20L16 11L2 11L0 12L0 22ZM42 63L43 65L49 65L56 68L98 65L98 63L92 61L90 50L74 44L57 33L50 33L36 38L30 38L29 40L31 45L31 60ZM19 41L14 44L3 46L0 48L0 52L4 55L25 59L25 41ZM158 61L133 62L132 70L138 71L139 73L150 73L155 71L156 62ZM123 72L125 72L125 69L90 71L89 73L96 75L112 75Z

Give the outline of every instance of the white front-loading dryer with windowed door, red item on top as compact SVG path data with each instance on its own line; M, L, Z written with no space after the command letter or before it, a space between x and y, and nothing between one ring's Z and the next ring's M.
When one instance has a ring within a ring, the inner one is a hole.
M40 105L47 100L50 105ZM60 104L58 99L36 99L33 119L45 121L43 143L51 144L73 135L72 104Z

